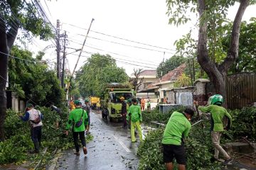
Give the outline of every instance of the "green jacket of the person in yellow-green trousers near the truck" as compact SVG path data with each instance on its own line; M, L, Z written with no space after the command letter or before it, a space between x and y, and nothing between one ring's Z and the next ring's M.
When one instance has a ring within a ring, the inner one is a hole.
M127 120L132 120L134 123L137 121L142 122L142 110L139 105L129 106Z

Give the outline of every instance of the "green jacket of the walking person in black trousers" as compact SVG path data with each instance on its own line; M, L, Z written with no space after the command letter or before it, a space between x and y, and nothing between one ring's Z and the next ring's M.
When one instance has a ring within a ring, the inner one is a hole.
M83 112L83 115L82 115ZM80 127L76 128L75 123L77 123L80 118L82 117L82 125ZM70 112L70 115L68 117L68 123L66 126L66 130L69 130L72 126L72 130L74 132L82 132L85 131L85 126L88 124L88 117L86 111L84 111L82 108L75 108Z

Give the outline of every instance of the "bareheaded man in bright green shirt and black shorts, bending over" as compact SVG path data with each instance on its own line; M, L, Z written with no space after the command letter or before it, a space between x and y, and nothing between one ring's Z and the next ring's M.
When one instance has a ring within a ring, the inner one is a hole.
M190 120L194 115L193 108L187 107L183 113L174 111L164 130L164 137L161 141L163 146L164 163L167 170L174 169L174 158L178 163L178 170L186 169L184 137L188 136L191 129Z

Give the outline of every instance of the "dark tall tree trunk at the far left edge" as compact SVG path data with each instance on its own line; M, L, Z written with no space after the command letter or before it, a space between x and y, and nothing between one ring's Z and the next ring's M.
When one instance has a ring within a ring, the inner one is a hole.
M3 18L1 13L0 18ZM0 22L0 141L4 141L8 57L11 47L14 45L18 28L11 28L10 30L11 32L7 35L5 23Z

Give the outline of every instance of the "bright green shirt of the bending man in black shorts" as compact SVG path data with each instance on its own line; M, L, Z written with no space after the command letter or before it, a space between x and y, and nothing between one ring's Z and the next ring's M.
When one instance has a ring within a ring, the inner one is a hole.
M188 137L188 132L191 130L191 123L183 113L174 112L164 130L162 144L166 145L181 145L181 139Z

